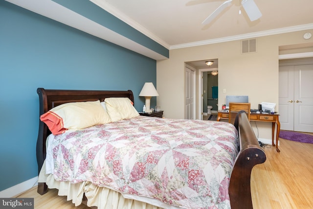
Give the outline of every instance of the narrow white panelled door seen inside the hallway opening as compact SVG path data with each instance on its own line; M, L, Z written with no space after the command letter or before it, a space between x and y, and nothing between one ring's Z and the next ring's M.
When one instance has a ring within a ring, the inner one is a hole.
M195 119L195 71L185 67L185 119Z

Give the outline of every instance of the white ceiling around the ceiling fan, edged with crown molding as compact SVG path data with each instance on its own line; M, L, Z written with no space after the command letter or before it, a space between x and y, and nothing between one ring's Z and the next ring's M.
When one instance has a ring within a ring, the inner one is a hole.
M169 49L313 28L313 0L254 0L263 14L254 22L233 0L207 25L224 0L91 1Z

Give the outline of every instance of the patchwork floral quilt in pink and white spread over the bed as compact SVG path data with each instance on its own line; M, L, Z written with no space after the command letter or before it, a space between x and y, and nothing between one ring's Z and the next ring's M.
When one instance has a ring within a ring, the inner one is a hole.
M230 209L238 154L229 123L137 116L50 135L46 163L57 181L89 181L194 209Z

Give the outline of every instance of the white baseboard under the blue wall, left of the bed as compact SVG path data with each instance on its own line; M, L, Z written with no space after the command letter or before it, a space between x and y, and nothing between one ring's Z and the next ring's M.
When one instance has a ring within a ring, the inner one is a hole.
M0 191L0 197L2 198L11 198L16 197L17 195L21 194L22 192L38 185L38 176L29 179L25 182L22 182L18 185L11 186L10 188L4 189Z

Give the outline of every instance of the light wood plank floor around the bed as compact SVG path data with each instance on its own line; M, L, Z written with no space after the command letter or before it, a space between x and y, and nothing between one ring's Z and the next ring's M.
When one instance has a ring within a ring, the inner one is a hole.
M251 175L254 209L312 209L313 208L313 144L280 139L280 153L266 147L267 161L256 165ZM41 196L37 187L18 197L34 198L35 209L89 209L75 207L57 189Z

